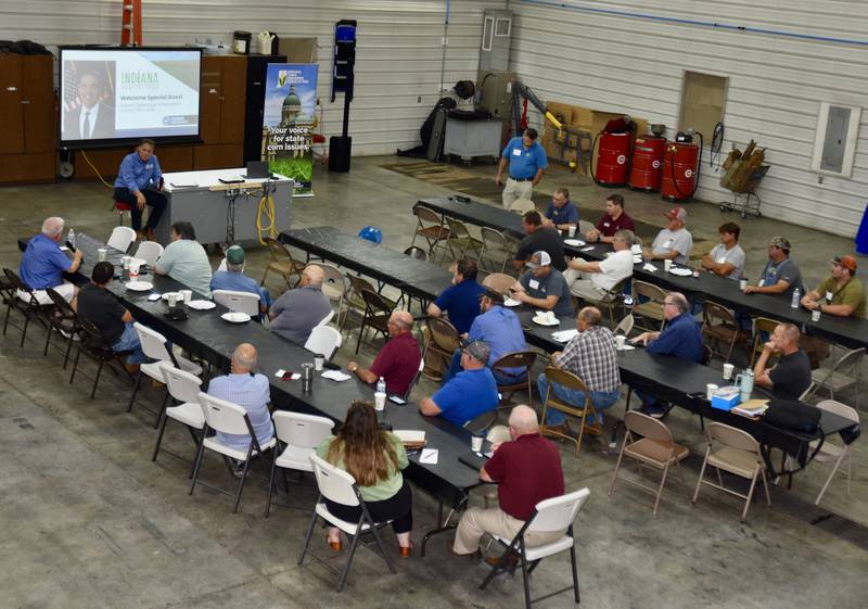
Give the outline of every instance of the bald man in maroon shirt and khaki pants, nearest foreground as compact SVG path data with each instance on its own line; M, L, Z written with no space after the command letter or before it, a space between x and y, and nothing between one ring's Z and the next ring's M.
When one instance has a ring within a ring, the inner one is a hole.
M514 537L531 518L536 504L563 495L563 470L558 447L539 435L536 413L529 406L515 406L509 416L510 442L492 446L494 455L480 470L480 480L497 482L498 507L472 507L461 515L452 554L480 556L483 535ZM561 538L566 529L524 535L528 547Z

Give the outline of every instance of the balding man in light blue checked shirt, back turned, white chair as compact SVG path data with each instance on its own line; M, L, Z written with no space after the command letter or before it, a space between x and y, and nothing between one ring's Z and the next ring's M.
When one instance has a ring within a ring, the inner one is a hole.
M254 375L256 366L256 347L250 343L241 343L232 353L231 372L225 377L216 377L208 383L208 395L237 404L247 411L251 427L256 434L259 446L270 442L275 436L271 413L268 403L271 393L265 375ZM251 444L250 434L217 433L217 441L237 451L247 452Z

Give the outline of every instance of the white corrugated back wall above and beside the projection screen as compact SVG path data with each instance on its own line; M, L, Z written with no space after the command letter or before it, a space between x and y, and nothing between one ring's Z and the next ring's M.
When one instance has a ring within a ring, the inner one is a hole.
M359 22L356 92L350 109L354 154L391 154L419 143L419 128L439 99L443 35L449 34L443 80L475 80L482 13L503 0L143 0L144 42L196 38L231 43L237 29L317 37L324 132L339 134L343 98L331 100L334 23ZM120 42L120 0L0 0L0 39L48 47ZM254 47L255 49L255 47Z

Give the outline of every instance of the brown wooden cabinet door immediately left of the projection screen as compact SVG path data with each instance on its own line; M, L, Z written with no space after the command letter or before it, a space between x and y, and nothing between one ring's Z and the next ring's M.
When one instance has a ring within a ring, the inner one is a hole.
M22 73L25 152L53 152L56 149L56 112L54 110L54 58L25 56Z

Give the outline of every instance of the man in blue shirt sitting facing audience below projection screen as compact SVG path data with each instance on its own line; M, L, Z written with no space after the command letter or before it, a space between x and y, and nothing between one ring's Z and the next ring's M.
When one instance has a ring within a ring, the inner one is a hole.
M154 154L154 140L143 139L136 152L124 157L115 178L115 201L130 206L132 229L142 237L142 211L150 205L144 236L154 241L154 227L166 208L166 195L163 194L163 172L159 161Z

